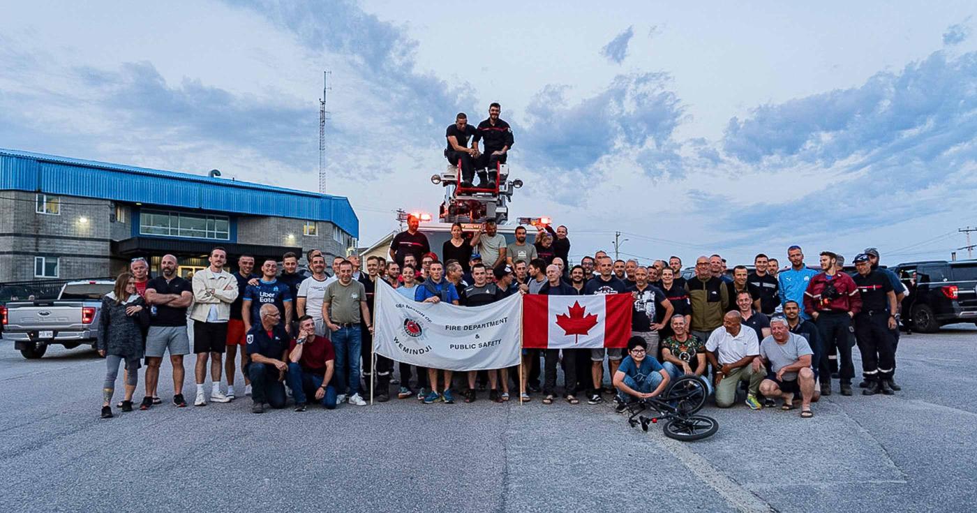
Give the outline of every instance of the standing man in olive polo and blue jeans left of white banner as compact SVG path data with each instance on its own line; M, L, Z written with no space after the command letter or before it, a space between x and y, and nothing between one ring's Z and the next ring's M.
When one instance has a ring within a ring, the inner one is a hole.
M356 406L366 406L360 396L360 320L373 332L372 320L366 308L366 288L353 279L353 263L343 260L339 263L339 279L325 287L322 298L322 321L329 329L332 346L336 354L336 403L347 401Z

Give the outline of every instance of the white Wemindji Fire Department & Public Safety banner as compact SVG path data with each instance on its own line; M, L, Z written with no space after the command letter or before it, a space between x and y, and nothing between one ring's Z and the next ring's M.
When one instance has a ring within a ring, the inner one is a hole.
M520 362L521 294L481 307L459 307L407 300L382 279L376 283L377 355L447 370L503 368Z

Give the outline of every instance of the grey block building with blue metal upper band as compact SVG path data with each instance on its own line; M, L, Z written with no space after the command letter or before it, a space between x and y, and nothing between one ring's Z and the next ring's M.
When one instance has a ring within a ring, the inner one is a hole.
M0 281L110 277L139 257L155 273L166 253L186 276L218 245L231 264L313 248L330 262L360 232L343 196L2 149L0 214Z

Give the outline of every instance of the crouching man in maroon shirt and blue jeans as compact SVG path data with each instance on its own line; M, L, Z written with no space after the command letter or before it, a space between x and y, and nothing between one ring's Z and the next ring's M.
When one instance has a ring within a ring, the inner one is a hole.
M305 411L308 396L326 409L336 407L336 387L332 385L335 353L329 339L316 334L312 316L299 318L299 334L288 354L288 388L295 398L295 411Z

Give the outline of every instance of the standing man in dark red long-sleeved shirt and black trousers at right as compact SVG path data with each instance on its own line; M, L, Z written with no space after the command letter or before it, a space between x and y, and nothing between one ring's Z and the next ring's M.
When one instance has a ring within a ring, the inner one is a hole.
M852 378L855 365L852 364L851 332L852 318L862 310L862 295L850 276L837 272L837 255L830 251L821 252L822 273L815 275L804 291L804 312L814 320L821 335L821 362L818 372L821 380L821 395L831 395L831 370L828 355L835 348L841 366L838 369L842 396L852 395Z

